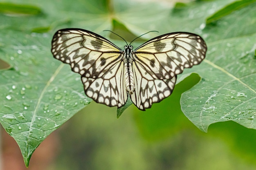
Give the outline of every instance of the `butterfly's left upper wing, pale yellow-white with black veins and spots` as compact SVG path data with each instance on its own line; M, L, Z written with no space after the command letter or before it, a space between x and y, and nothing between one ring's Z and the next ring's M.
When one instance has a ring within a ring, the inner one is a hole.
M82 29L62 29L52 39L54 57L84 77L101 77L122 59L122 51L107 39Z

